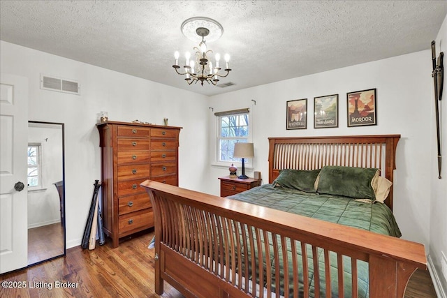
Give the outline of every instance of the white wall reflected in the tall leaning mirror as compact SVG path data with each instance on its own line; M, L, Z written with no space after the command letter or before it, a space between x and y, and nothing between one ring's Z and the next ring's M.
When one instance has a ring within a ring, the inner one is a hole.
M28 142L41 144L42 189L28 191L28 228L61 221L59 193L53 185L62 176L62 129L29 127Z

